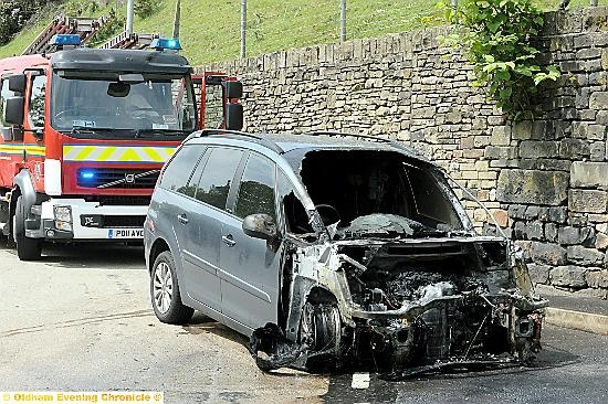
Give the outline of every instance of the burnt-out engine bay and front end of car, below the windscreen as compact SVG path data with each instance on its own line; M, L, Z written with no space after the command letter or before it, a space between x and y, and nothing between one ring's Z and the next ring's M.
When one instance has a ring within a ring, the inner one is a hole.
M496 237L457 237L301 249L292 291L310 284L298 281L305 277L318 285L314 296L291 318L298 327L254 333L252 353L264 370L325 360L403 376L530 363L547 301L531 295L527 269L509 248Z

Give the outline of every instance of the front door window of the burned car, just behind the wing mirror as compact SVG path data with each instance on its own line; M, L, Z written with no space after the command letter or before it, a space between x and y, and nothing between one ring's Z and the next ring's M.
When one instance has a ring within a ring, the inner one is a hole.
M252 152L239 184L234 214L244 219L250 214L265 213L276 221L274 179L274 162Z

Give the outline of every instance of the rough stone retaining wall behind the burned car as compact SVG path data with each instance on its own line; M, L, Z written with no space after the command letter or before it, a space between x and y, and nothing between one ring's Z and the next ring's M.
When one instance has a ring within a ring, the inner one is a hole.
M470 85L448 28L206 66L239 76L247 130L343 130L402 140L491 210L535 281L608 294L608 8L546 15L544 63L563 75L534 121L510 123ZM203 68L199 68L202 71ZM475 223L482 209L464 201Z

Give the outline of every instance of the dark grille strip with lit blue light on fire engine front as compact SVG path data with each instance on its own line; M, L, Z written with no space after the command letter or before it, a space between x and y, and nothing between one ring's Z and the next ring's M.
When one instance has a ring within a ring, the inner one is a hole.
M77 184L97 189L153 189L160 170L96 168L80 169Z

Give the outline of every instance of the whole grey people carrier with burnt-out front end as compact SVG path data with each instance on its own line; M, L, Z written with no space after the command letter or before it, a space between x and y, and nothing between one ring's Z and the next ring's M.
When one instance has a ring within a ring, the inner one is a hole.
M478 235L447 174L395 141L196 132L144 240L157 317L198 309L250 336L264 370L413 374L539 349L546 300L514 246Z

